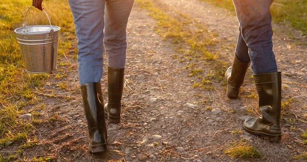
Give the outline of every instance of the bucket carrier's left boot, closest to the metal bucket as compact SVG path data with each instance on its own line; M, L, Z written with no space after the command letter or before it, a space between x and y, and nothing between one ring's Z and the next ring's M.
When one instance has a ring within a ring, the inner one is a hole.
M100 83L82 85L81 93L90 134L90 150L92 153L106 151L107 132Z

